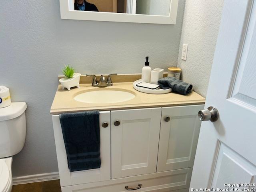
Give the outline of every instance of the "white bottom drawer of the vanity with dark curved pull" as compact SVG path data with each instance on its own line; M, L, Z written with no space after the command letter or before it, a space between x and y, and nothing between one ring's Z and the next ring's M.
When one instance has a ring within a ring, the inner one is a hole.
M168 173L168 175L166 175ZM164 175L165 174L165 175ZM141 188L134 192L170 192L174 190L186 189L190 185L192 168L154 173L151 178L148 175L133 176L128 178L114 179L104 182L104 186L98 183L75 185L62 187L62 192L127 192L128 188L136 188L141 184ZM138 180L136 179L138 178ZM111 184L112 182L112 184ZM187 192L181 190L177 192Z

